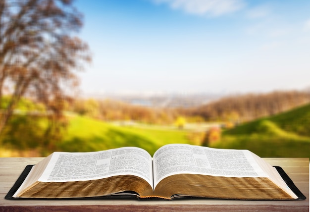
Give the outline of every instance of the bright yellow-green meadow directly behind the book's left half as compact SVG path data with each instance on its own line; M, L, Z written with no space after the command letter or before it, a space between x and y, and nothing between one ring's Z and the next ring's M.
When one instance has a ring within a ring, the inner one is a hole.
M140 147L151 155L168 143L190 143L185 131L115 126L91 118L74 116L64 139L57 144L60 151L91 152L125 146Z

